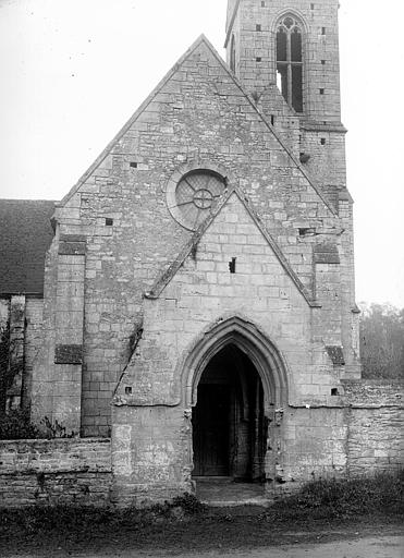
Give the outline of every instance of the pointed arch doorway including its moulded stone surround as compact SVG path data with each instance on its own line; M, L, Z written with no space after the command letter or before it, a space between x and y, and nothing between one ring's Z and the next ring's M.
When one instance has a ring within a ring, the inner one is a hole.
M289 391L279 349L254 323L231 316L205 330L181 366L192 422L184 463L197 481L197 494L198 481L213 477L247 481L252 487L262 481L265 494L272 494L283 466ZM242 500L240 490L233 495Z

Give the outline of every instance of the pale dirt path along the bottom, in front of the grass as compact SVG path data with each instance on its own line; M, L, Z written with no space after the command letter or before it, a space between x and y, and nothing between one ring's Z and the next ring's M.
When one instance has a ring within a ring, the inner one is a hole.
M10 558L49 558L49 554L8 555ZM164 550L114 550L93 554L57 553L54 556L70 558L404 558L404 536L387 535L360 537L353 541L332 543L293 544L282 547L269 546L258 549L227 551L224 548L208 553L170 553Z

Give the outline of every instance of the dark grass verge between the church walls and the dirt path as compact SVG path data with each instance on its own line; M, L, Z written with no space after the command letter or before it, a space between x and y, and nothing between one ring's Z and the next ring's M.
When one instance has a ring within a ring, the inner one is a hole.
M354 523L396 525L404 517L403 487L402 472L347 481L314 481L265 510L209 509L191 495L148 510L2 510L0 548L27 548L29 553L41 548L49 554L56 548L86 550L111 545L121 549L208 549L218 545L236 548L279 544L279 539L287 542L285 533L292 530L313 536L344 522L343 532Z

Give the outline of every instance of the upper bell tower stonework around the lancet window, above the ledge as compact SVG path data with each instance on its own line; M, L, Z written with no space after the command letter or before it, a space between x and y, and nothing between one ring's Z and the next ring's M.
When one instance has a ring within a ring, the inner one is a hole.
M321 0L313 4L306 0L293 0L286 7L283 0L243 0L232 29L238 38L237 76L248 93L261 92L269 84L277 83L276 23L285 13L285 8L297 14L304 23L305 113L315 120L339 121L336 0ZM325 89L323 94L320 94L320 88Z

